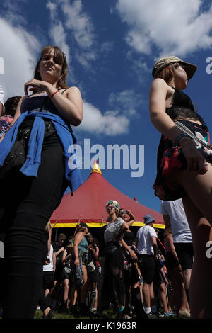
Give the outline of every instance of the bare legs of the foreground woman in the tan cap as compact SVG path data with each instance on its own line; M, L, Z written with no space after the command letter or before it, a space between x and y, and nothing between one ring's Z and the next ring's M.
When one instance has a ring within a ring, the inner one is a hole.
M194 266L190 281L192 318L212 318L212 258L206 256L206 244L212 240L212 166L199 175L194 171L177 171L175 181L187 191L184 210L192 232Z

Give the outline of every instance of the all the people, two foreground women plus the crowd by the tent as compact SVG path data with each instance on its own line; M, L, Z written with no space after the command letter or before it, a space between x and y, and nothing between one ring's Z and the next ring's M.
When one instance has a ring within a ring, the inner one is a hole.
M67 86L66 55L56 46L42 49L25 96L4 103L0 86L3 318L33 318L37 306L51 318L58 305L100 316L112 305L119 319L173 312L211 318L211 145L206 123L182 92L195 72L175 56L158 60L152 72L150 116L161 133L153 188L166 225L164 253L154 218L146 215L134 235L134 215L117 201L106 205L100 237L81 223L52 243L49 218L66 188L73 195L82 183L76 158L68 163L75 156L72 127L83 120L81 91Z

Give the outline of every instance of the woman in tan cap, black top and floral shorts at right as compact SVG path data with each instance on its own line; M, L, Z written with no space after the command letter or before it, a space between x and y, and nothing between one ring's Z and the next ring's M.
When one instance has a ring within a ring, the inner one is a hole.
M212 259L207 258L206 250L212 240L212 161L202 143L208 142L208 128L189 96L182 92L195 71L196 65L174 56L158 60L153 67L150 114L153 125L162 133L153 188L162 200L182 198L194 245L191 317L211 318ZM201 143L180 129L182 125Z

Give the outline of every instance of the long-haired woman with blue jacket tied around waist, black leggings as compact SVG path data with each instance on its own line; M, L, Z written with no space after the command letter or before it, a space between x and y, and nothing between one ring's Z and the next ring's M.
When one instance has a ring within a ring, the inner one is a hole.
M14 157L18 167L11 167L1 181L6 319L34 317L42 286L42 232L67 186L73 192L81 185L76 165L74 169L68 162L73 158L69 149L76 143L70 124L81 123L83 101L78 88L66 85L67 72L66 56L59 47L44 47L0 143L1 176L13 147L26 156L21 163Z

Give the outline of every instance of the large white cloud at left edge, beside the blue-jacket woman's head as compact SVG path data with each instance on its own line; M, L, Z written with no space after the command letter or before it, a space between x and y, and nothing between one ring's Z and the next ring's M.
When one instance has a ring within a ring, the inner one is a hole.
M24 84L33 79L37 50L40 43L20 26L0 18L0 57L4 58L4 74L0 74L0 84L5 98L23 96Z

